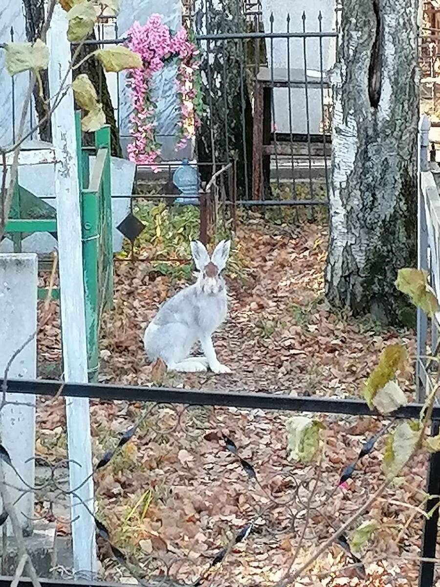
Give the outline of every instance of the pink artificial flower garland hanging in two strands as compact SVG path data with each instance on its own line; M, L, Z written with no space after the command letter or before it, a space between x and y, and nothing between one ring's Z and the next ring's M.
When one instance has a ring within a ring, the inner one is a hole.
M157 169L155 164L160 156L160 144L155 139L156 104L151 97L151 76L160 71L167 60L177 61L175 83L180 99L177 123L180 140L176 150L182 149L188 139L194 136L194 129L199 124L201 100L195 100L197 91L194 89L194 73L200 65L197 58L199 52L194 43L188 40L185 29L171 35L170 29L157 14L151 15L144 26L135 22L127 35L128 48L138 53L143 61L143 68L131 70L128 77L133 100L133 113L130 116L133 142L127 147L128 158L134 163Z

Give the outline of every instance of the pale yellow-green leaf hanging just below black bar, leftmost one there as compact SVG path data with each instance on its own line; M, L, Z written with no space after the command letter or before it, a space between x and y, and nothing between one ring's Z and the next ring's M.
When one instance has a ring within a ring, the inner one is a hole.
M306 416L293 416L286 420L289 460L310 463L319 448L319 431L322 428L319 420Z

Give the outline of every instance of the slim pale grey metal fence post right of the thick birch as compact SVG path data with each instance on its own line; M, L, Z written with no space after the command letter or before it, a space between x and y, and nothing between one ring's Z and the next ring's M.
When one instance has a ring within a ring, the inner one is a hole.
M428 143L431 123L427 116L422 116L419 122L418 140L418 190L417 190L417 268L428 270L428 231L425 214L425 197L422 190L422 171L428 170ZM417 400L424 402L425 383L423 380L425 356L427 354L428 317L421 308L417 308L417 358L415 366L415 381L417 386ZM422 373L423 372L423 373Z

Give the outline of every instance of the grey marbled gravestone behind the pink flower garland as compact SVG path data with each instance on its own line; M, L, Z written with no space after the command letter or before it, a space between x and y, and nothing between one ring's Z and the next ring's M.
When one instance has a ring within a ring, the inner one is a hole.
M182 26L182 8L180 0L122 0L117 16L118 36L127 35L128 29L134 22L144 25L152 14L159 14L162 21L172 31L178 31ZM156 138L161 143L161 159L164 161L192 158L192 141L188 141L184 149L175 150L177 144L177 122L179 103L175 87L176 68L174 65L165 65L155 73L152 79L152 95L157 104ZM130 89L126 86L124 73L119 80L119 125L121 147L126 152L130 143Z

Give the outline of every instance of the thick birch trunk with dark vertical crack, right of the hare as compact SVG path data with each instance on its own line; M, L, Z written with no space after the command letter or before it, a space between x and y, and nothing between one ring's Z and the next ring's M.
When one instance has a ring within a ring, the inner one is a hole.
M415 266L418 0L344 0L332 72L333 158L326 295L408 323L394 282Z

